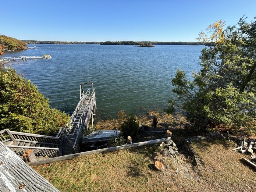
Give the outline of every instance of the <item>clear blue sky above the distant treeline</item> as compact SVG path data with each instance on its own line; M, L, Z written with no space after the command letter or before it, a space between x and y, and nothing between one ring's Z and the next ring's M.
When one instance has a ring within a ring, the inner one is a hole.
M3 0L0 35L41 41L188 41L217 20L256 16L255 0Z

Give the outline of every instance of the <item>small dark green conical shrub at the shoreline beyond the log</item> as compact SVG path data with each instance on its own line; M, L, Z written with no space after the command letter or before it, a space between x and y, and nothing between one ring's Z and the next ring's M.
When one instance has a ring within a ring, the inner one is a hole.
M139 132L139 123L136 121L135 116L130 113L127 120L123 122L121 125L121 131L123 132L124 138L136 137Z

